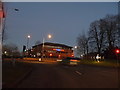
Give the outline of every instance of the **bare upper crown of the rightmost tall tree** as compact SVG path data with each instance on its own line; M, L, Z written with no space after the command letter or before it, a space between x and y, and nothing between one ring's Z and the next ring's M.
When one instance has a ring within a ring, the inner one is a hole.
M107 15L104 18L104 21L106 23L106 25L104 26L106 33L106 43L108 44L109 49L117 46L117 43L119 42L120 31L118 29L119 25L117 19L117 15Z

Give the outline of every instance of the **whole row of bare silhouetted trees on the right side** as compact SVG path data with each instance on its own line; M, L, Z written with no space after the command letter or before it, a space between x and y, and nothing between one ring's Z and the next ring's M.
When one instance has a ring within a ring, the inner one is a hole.
M115 59L115 49L120 48L120 16L107 15L90 24L88 35L79 35L79 54L95 53L106 59Z

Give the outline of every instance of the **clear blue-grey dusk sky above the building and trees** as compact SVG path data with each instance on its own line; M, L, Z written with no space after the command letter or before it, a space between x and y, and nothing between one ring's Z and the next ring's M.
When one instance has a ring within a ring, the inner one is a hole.
M118 13L117 2L6 2L5 7L6 42L20 50L27 44L28 34L29 47L43 37L45 42L75 46L76 38L89 30L91 22ZM53 37L48 39L48 34Z

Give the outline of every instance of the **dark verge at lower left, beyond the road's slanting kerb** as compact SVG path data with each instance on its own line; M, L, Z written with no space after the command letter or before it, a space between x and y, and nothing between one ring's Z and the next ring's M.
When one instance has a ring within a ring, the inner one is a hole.
M34 69L30 63L4 60L2 62L2 88L15 88Z

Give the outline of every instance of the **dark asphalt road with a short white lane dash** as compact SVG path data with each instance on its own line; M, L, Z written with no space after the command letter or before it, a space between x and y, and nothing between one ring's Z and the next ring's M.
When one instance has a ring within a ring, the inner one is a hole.
M34 63L17 88L118 88L117 68Z

